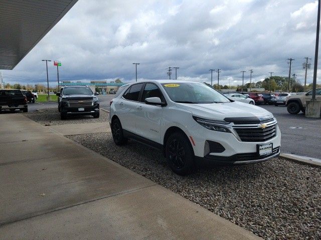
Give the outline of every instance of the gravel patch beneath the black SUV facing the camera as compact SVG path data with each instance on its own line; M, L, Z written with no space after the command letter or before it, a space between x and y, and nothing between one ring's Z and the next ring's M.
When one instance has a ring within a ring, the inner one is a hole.
M73 115L66 120L60 119L60 112L58 107L40 109L39 112L24 113L24 116L42 124L42 125L64 125L73 123L94 123L105 122L109 119L109 113L100 109L99 118L93 118L91 115Z

